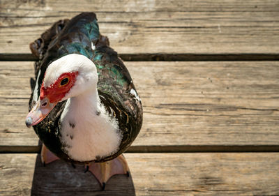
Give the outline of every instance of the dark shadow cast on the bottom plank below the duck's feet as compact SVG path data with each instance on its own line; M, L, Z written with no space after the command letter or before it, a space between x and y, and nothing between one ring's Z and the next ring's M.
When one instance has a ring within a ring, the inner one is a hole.
M91 172L84 173L83 165L56 160L45 167L36 158L31 195L135 195L132 174L115 175L107 182L105 190Z

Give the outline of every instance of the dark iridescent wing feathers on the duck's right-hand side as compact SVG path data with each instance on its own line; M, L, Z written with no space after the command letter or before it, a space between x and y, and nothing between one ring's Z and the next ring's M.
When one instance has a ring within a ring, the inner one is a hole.
M135 90L133 80L117 53L104 39L99 40L93 52L93 62L98 68L98 91L104 105L112 108L123 135L119 156L135 140L142 127L142 103L130 93ZM136 91L136 90L135 90ZM107 109L110 111L110 109Z

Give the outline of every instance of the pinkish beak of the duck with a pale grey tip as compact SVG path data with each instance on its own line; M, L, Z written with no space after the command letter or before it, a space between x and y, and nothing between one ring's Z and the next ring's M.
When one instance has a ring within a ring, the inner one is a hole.
M52 111L57 103L58 102L50 103L50 100L47 97L43 98L43 100L39 99L27 115L27 118L25 120L27 127L34 126L40 123L40 121L43 121L43 119L45 119L45 116L47 116L47 114Z

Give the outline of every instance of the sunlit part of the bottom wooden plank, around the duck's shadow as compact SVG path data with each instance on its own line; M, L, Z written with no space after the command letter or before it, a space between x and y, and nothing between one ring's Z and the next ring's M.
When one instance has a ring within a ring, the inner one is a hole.
M278 195L278 153L126 153L131 177L106 190L84 167L37 154L0 155L1 195ZM159 163L159 164L158 164ZM16 182L16 183L15 183Z

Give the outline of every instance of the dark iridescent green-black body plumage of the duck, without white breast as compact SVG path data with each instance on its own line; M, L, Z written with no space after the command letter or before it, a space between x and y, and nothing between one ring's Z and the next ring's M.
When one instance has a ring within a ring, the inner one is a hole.
M123 137L119 151L103 158L105 161L119 156L135 140L142 126L142 103L137 95L133 81L127 68L109 47L109 41L101 36L94 13L81 13L72 20L56 22L41 38L31 43L31 51L40 60L36 62L36 85L32 86L29 107L31 108L39 97L40 85L43 82L47 66L56 59L67 54L82 54L95 63L98 70L98 93L100 101L109 114L116 117L119 130ZM54 110L34 129L45 145L61 158L70 160L61 151L59 128L60 115L65 101L56 105Z

